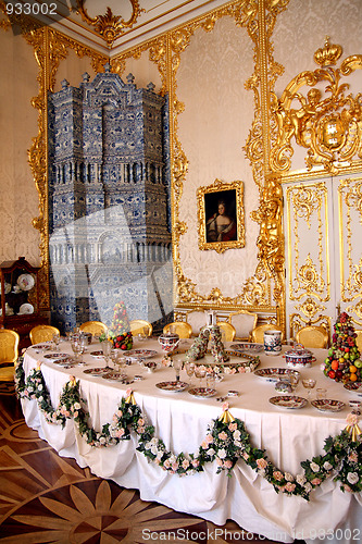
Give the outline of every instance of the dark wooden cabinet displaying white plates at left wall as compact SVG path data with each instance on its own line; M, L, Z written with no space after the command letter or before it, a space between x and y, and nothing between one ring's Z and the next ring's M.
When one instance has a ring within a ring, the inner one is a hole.
M28 334L33 326L48 322L39 312L38 272L39 268L32 267L25 257L0 264L0 327L20 334L21 349L30 344Z

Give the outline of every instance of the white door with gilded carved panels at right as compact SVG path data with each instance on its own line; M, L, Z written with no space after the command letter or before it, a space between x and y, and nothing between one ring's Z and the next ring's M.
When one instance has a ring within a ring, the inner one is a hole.
M283 184L287 335L329 333L339 311L362 329L362 177Z

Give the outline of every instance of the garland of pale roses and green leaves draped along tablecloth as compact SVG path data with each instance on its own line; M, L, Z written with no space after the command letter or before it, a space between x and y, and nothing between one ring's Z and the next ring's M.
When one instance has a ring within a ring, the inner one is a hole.
M197 454L168 452L164 443L154 436L154 428L146 424L146 418L137 406L130 390L123 397L113 415L112 422L103 425L101 432L89 426L89 412L80 397L79 381L74 376L65 384L58 408L53 409L47 391L40 363L25 380L23 360L20 358L15 370L15 386L21 398L36 399L39 409L49 423L65 425L73 418L79 434L95 447L115 445L129 440L130 431L138 436L137 450L172 474L187 475L203 471L207 462L216 461L217 473L226 470L232 475L236 462L241 459L265 478L276 493L298 495L309 500L313 489L329 477L340 482L340 489L351 493L362 491L362 434L358 417L347 417L348 426L335 437L325 441L325 455L301 462L302 471L296 477L275 467L264 449L252 447L249 433L241 420L234 418L228 404L223 405L222 416L213 420Z

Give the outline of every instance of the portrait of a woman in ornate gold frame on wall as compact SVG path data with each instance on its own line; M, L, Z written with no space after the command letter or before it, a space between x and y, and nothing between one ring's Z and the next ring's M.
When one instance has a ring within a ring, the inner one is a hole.
M198 188L197 199L199 248L223 254L244 247L244 183L215 180L213 185Z

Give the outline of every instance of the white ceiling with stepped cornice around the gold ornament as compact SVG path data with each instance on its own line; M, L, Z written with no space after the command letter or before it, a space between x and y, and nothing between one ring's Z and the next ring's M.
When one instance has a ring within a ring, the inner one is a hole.
M24 3L26 0L22 1ZM40 0L38 1L41 3ZM58 30L113 57L122 50L135 47L226 2L225 0L138 0L142 11L137 21L133 27L123 28L122 35L112 46L108 46L103 37L96 32L95 26L88 24L80 14L76 13L76 0L58 0L54 3L57 4L57 17L47 18L48 24L51 21L51 26ZM51 4L51 0L48 0L48 4ZM87 14L92 18L105 15L108 7L112 10L113 15L120 16L124 21L128 21L132 16L132 0L85 0L84 2Z

